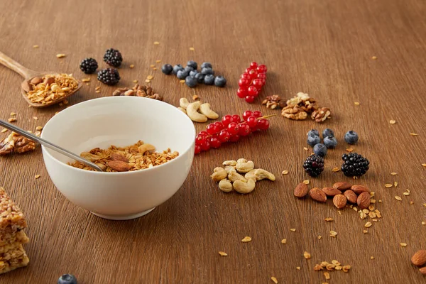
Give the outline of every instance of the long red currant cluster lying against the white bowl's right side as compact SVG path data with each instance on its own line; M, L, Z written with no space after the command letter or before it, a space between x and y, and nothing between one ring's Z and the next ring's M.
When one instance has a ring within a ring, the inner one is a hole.
M268 118L262 116L261 111L244 111L243 121L238 114L222 117L222 122L216 121L207 125L195 138L195 154L208 151L210 148L219 148L222 143L239 141L241 136L248 136L253 131L269 128Z

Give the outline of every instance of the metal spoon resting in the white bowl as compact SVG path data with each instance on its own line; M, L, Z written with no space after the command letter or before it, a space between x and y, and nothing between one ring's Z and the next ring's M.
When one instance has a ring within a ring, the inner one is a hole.
M88 165L90 168L94 168L95 170L99 171L99 172L103 172L102 168L99 167L99 165L89 162L88 160L80 157L80 155L75 155L75 153L72 153L68 150L65 150L64 148L61 148L60 146L56 146L53 143L50 143L49 141L46 141L43 138L40 138L38 136L35 136L33 133L29 133L23 129L20 129L19 127L16 127L12 124L7 123L4 120L0 119L0 126L3 126L6 129L9 129L13 132L16 132L18 134L21 134L23 137L26 137L28 139L31 139L32 141L36 141L38 143L40 143L41 145L52 149L53 151L56 151L58 153L61 153L62 155L66 155L67 157L70 157L74 160L78 160L81 163L84 163L84 165Z

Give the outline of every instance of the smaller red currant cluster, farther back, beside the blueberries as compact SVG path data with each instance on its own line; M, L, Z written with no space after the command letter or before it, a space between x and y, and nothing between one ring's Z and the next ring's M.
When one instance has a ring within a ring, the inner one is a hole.
M246 99L246 102L251 104L261 92L263 85L266 83L266 65L258 65L256 62L251 62L250 67L241 75L238 81L239 89L236 94L241 99Z

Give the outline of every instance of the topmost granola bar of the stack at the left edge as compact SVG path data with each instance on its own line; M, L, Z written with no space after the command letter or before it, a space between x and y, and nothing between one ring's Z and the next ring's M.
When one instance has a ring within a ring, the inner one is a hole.
M26 219L9 196L0 187L0 235L14 234L26 228Z

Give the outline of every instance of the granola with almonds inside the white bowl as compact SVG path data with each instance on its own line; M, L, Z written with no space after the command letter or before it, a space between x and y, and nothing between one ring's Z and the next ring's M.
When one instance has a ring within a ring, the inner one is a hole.
M155 151L154 146L138 141L138 143L126 147L94 148L89 152L81 153L80 156L99 165L106 172L128 172L162 165L179 155L176 151L172 152L170 148L162 153L153 151ZM78 161L69 163L69 165L82 170L94 170Z

